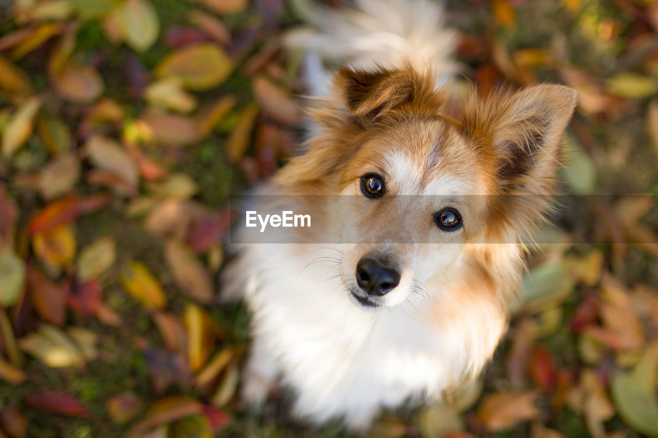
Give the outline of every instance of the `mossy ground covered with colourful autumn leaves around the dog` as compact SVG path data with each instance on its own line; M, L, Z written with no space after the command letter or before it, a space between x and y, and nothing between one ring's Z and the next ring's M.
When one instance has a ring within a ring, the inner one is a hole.
M241 406L249 315L216 303L228 197L303 137L306 1L0 1L0 437L341 436ZM567 195L483 376L372 436L657 436L658 4L447 11L483 96L578 91Z

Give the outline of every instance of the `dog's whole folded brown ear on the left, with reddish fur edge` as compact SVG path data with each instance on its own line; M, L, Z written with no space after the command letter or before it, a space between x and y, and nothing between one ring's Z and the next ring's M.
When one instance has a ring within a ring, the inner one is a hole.
M443 103L434 92L432 78L413 69L380 68L369 72L343 67L338 70L334 82L343 93L349 112L372 120L402 106L431 114Z

